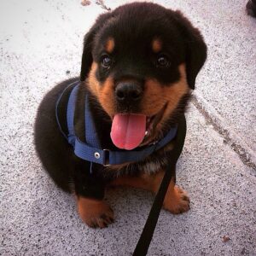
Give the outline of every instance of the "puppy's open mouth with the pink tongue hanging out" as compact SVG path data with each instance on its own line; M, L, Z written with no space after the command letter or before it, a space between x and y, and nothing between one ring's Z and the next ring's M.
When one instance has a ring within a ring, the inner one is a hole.
M162 119L166 105L152 116L137 113L117 113L113 117L110 137L117 148L137 148L149 137Z

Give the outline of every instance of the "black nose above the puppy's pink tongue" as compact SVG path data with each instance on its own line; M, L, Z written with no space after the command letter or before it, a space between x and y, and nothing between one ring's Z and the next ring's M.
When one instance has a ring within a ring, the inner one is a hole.
M143 89L136 83L119 83L115 88L115 96L119 102L137 102L143 96Z

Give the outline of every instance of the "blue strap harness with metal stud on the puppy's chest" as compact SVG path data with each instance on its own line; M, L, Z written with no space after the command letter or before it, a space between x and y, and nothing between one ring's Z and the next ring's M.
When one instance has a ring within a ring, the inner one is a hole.
M61 93L58 101L55 105L55 116L61 133L67 138L69 144L73 146L74 154L83 160L90 161L90 163L97 163L103 166L109 165L120 165L127 162L137 162L144 160L149 154L163 148L167 143L170 143L177 134L177 126L172 128L165 137L160 141L155 142L147 147L135 148L133 150L125 151L112 151L106 148L102 149L99 139L96 134L96 127L91 116L90 105L88 95L85 97L85 111L84 111L84 122L85 122L85 142L81 142L79 137L75 135L74 130L74 113L77 92L79 90L79 81L69 84L65 90ZM58 108L61 102L61 97L65 91L73 86L70 96L67 102L67 130L68 134L61 128L60 120L58 118Z

